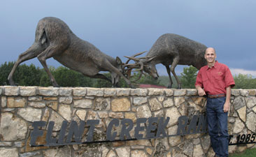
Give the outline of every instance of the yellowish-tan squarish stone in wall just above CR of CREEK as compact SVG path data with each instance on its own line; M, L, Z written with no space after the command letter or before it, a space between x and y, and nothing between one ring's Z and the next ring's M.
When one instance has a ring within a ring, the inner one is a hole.
M111 102L113 112L122 112L131 110L131 103L128 98L115 98Z

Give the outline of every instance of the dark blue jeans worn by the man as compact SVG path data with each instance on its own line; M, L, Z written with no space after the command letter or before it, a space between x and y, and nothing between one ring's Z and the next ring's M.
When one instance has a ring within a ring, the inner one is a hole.
M227 112L223 112L226 97L207 98L206 114L211 146L217 156L229 156Z

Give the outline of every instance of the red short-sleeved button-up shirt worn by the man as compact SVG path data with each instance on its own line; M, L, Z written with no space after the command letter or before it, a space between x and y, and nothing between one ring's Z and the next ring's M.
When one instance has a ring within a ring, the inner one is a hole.
M211 68L208 66L201 67L195 83L195 86L200 86L206 94L210 95L226 94L226 88L234 87L234 85L234 78L229 68L218 61L215 61Z

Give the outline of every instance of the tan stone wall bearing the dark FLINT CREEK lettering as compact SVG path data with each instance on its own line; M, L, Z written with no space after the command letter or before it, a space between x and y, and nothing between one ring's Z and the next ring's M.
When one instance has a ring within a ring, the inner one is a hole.
M255 133L256 90L232 90L229 135ZM94 140L106 140L111 119L170 117L166 133L175 135L178 117L205 111L206 98L194 89L95 89L53 87L0 87L0 156L213 156L207 133L152 140L30 147L33 121L55 121L53 136L62 121L99 119ZM46 130L47 127L43 127ZM118 132L120 133L120 131ZM131 130L131 134L134 130ZM236 138L232 139L233 143ZM45 144L45 133L36 144ZM229 146L240 152L255 144Z

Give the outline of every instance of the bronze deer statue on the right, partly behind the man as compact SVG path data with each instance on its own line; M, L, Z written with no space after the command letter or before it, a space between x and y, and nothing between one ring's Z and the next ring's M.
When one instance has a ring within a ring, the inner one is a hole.
M173 33L166 33L160 36L154 45L152 45L146 57L136 58L137 54L135 54L133 57L129 57L129 59L133 59L138 65L143 64L143 70L155 79L159 77L155 65L162 63L166 67L169 75L169 88L173 84L171 80L171 73L173 73L178 84L178 89L181 89L180 81L174 69L178 64L192 65L197 69L205 66L207 64L206 59L204 59L206 48L205 45L189 38ZM171 69L169 65L171 65Z

